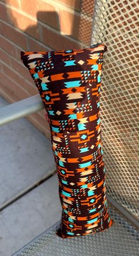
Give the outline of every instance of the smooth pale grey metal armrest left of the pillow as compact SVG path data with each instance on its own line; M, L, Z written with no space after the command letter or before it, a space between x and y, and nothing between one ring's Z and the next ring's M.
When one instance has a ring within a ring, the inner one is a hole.
M9 104L0 108L0 126L44 109L40 95Z

